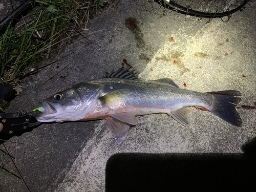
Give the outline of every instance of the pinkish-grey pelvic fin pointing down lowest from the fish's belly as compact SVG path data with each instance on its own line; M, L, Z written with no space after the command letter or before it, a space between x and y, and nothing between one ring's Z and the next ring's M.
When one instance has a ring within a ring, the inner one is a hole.
M108 123L117 144L121 144L128 134L130 127L129 124L122 122L118 119L115 119L113 117L106 118L106 122Z

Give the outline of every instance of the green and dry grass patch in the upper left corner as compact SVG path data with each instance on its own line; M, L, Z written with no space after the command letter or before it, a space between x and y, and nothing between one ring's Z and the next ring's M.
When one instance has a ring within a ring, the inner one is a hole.
M0 37L0 83L15 87L24 70L38 59L49 58L51 52L65 45L67 36L86 30L99 11L113 8L120 0L36 0L26 17Z

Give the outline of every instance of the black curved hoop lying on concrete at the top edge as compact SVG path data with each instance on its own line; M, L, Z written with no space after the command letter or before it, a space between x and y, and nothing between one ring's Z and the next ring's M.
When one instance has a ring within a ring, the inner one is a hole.
M224 17L224 16L229 16L239 10L242 11L248 1L249 0L244 0L238 7L234 8L232 10L228 10L228 11L224 11L224 12L217 12L217 10L216 10L216 12L210 13L210 12L201 12L201 11L193 10L193 9L190 9L189 6L184 7L174 1L155 0L156 3L162 5L166 9L175 10L181 14L186 14L186 15L196 16L196 17L205 17L205 18Z

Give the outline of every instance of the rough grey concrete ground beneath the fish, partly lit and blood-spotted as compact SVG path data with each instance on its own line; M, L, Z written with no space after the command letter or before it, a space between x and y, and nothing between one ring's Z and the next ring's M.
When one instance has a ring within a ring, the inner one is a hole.
M189 127L167 114L145 115L137 117L138 126L118 145L105 120L42 124L4 143L31 191L104 191L106 162L114 154L238 154L256 136L256 3L232 14L227 23L216 18L208 24L177 13L146 11L137 3L122 1L118 10L92 20L83 33L87 38L79 37L58 58L69 56L28 79L32 87L23 93L70 63L68 67L31 94L16 97L7 112L31 111L43 98L102 77L126 60L143 80L169 77L179 87L199 92L240 91L243 126L196 108L189 114ZM8 158L6 167L19 175ZM3 191L28 191L20 179L0 173L0 181Z

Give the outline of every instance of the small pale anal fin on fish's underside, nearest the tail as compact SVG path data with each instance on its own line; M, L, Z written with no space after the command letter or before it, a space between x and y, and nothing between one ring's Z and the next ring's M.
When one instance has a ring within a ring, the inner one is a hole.
M172 116L175 120L177 120L180 124L184 126L189 126L189 122L187 120L187 114L190 113L190 108L188 106L181 108L176 111L171 111L168 113L169 116Z

